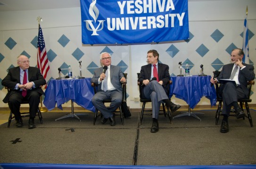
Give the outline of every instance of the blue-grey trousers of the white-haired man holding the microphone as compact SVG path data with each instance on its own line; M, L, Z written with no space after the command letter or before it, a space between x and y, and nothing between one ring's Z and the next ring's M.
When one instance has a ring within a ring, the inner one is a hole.
M119 108L123 99L123 93L117 90L112 91L98 91L92 98L92 103L97 108L100 113L105 117L112 117L113 112ZM106 107L103 100L111 100L110 106Z

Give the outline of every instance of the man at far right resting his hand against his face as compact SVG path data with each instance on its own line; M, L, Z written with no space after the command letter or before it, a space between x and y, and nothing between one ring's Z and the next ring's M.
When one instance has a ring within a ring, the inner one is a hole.
M236 117L242 118L245 113L239 107L237 100L248 97L247 83L255 78L254 67L252 65L242 63L244 52L242 49L233 49L231 53L231 62L223 66L220 75L213 79L211 83L215 83L218 79L232 79L236 81L235 85L232 82L227 82L220 85L219 94L223 98L223 121L221 124L221 132L229 131L228 116L233 106L236 111ZM232 72L232 73L231 73Z

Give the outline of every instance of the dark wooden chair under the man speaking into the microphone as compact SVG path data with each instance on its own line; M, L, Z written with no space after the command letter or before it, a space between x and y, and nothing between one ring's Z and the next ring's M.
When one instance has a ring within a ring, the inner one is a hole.
M127 79L127 73L123 73L123 74L124 74L124 77ZM94 84L94 83L91 83L91 86L93 87L94 93L96 94L98 92L98 85ZM125 98L125 101L126 101L126 83L122 83L122 88L123 88L123 98ZM104 103L111 103L111 100L104 100L103 102ZM95 115L94 115L94 118L93 118L93 125L95 125L97 117L99 117L99 116L102 117L101 113L98 115L98 111L99 110L96 108ZM116 110L115 113L116 112L120 113L121 122L122 122L122 125L124 125L124 114L123 114L123 111L122 111L121 104L119 106L119 110Z

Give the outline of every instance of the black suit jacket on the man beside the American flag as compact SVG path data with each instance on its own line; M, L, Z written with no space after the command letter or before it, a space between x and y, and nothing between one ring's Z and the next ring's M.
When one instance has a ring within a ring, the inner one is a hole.
M37 91L40 94L44 93L40 86L46 84L46 81L41 75L41 72L38 68L35 68L35 67L28 68L28 81L34 82L35 84L35 88L32 88L31 90ZM3 99L4 103L8 103L9 96L12 93L20 91L20 89L18 90L14 89L17 83L21 84L19 66L9 69L7 76L2 80L2 85L10 89L7 95L5 96L5 98Z

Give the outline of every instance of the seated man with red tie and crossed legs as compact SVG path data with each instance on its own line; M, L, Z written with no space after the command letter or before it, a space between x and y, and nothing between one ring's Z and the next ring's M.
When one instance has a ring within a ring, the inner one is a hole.
M158 115L161 103L165 103L172 112L175 112L180 105L175 105L168 98L166 84L170 81L169 66L163 63L158 63L159 54L156 50L149 50L148 65L142 66L140 69L140 84L144 84L142 88L142 97L151 99L152 102L152 117L153 124L151 132L158 131ZM156 77L157 80L152 80ZM151 81L150 81L151 80ZM164 87L165 86L165 87Z

